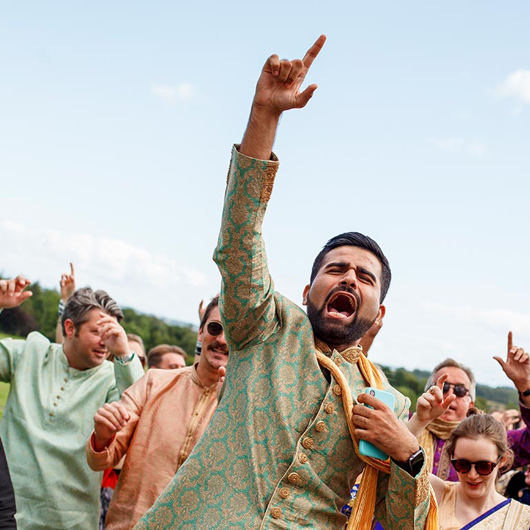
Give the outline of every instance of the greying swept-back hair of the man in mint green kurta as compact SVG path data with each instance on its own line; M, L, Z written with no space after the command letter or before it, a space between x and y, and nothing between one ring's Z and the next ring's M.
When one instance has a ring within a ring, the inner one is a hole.
M118 322L123 319L123 311L120 309L120 306L118 306L116 300L109 297L106 291L83 287L76 290L66 303L63 317L61 318L63 335L66 336L65 321L67 319L70 319L74 323L77 333L79 327L88 320L87 312L91 309L100 309L107 313L107 315L116 317Z

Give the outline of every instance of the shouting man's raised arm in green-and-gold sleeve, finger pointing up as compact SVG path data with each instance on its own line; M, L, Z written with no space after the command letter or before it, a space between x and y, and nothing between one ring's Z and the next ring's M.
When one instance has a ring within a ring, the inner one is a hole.
M256 86L251 118L240 150L233 149L222 226L214 259L222 276L220 310L231 351L270 335L277 326L262 223L278 168L272 155L279 116L306 105L316 85L299 92L326 38L304 59L267 59ZM273 158L274 160L271 160Z

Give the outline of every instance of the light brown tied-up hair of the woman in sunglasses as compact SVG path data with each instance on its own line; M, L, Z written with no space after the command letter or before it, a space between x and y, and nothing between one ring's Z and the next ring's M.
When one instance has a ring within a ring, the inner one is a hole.
M513 462L513 451L509 448L504 425L476 407L471 407L467 411L467 418L460 421L458 427L451 433L447 441L447 452L450 456L454 456L454 448L458 438L471 438L473 440L486 438L495 444L499 456L506 456L507 462L502 467L509 468Z

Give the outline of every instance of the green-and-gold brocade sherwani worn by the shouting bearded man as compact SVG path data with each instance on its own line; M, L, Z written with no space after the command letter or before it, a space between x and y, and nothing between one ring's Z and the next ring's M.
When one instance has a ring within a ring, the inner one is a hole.
M275 292L268 273L262 221L277 167L277 159L233 149L214 256L230 350L224 392L188 460L136 530L330 530L346 523L340 510L364 464L354 453L341 388L324 377L306 313ZM357 396L367 385L350 353L328 355ZM405 420L409 401L387 390ZM423 529L426 470L414 480L392 463L390 476L379 476L376 502L386 529Z

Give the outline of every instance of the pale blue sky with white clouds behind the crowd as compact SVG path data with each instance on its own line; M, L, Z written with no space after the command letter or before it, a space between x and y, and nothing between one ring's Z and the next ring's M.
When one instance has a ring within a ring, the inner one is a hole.
M19 2L0 6L0 271L196 324L226 169L267 56L328 36L286 114L264 226L294 301L329 237L394 275L371 358L506 383L530 348L526 2Z

